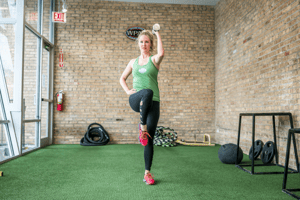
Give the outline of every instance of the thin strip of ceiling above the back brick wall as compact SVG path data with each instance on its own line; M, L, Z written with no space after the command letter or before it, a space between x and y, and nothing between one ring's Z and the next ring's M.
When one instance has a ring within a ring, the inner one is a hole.
M106 0L106 1L215 6L220 0L160 0L160 1L158 0Z

